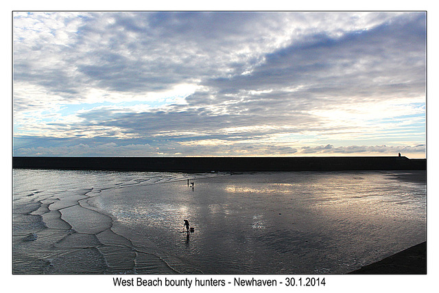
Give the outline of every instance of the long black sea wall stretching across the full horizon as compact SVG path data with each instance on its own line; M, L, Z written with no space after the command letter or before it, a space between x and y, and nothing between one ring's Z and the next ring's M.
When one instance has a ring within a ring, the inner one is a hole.
M331 157L79 157L14 156L13 168L116 171L248 172L425 170L427 159L405 156Z

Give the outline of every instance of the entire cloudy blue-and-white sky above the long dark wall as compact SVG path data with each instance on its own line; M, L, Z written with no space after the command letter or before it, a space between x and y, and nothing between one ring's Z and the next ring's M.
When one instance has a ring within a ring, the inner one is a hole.
M424 12L14 12L14 156L425 157Z

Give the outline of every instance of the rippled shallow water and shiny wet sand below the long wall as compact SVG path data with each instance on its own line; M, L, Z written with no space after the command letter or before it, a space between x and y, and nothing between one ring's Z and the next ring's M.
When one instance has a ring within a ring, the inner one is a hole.
M346 273L425 241L425 187L417 171L14 169L13 272Z

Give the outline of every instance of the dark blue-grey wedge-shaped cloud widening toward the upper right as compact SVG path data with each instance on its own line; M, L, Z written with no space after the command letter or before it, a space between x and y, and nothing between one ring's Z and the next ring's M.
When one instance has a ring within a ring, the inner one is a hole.
M320 106L324 105L319 95L335 97L337 104L344 102L340 95L368 99L399 92L420 95L425 92L425 16L401 16L340 38L316 34L265 59L251 74L207 84L223 93L306 86L305 94L316 97Z

